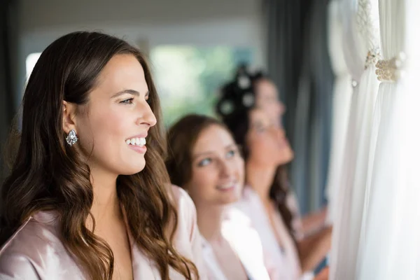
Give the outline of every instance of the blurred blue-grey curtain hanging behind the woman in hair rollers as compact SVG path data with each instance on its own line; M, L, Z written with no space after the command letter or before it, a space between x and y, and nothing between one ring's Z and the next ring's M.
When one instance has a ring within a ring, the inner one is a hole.
M303 214L325 204L333 74L327 48L327 0L267 0L269 73L287 111L295 151L290 180Z

